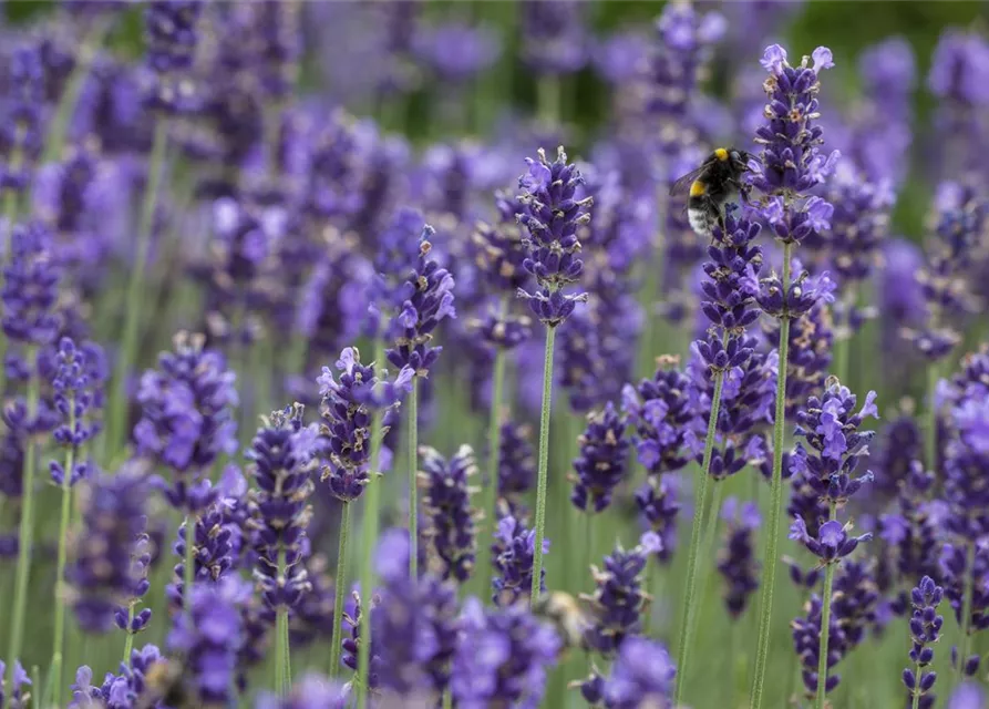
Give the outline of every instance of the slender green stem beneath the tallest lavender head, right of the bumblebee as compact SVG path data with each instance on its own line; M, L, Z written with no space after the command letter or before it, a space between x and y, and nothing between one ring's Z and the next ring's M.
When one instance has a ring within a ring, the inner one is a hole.
M790 258L792 244L783 245L783 289L790 289ZM759 615L759 644L755 650L755 678L750 709L760 709L770 654L770 630L773 623L773 590L776 583L776 544L783 513L783 434L786 430L786 358L790 351L790 318L780 319L780 358L776 373L776 413L773 419L773 479L770 500L770 524L765 531L763 554L762 602Z

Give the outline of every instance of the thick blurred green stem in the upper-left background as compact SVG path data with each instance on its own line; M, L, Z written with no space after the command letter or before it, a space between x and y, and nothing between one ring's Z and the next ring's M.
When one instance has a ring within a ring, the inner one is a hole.
M134 364L141 319L146 317L142 307L146 286L144 271L147 267L147 254L151 249L151 233L154 227L155 208L158 204L158 192L161 191L167 144L167 123L165 119L159 117L155 124L154 144L152 145L151 160L147 166L147 185L144 191L144 201L141 206L141 224L137 229L137 250L134 256L133 268L131 269L131 279L127 284L124 330L110 395L106 435L111 454L116 454L124 446L127 439L125 430L127 418L126 380L131 367Z

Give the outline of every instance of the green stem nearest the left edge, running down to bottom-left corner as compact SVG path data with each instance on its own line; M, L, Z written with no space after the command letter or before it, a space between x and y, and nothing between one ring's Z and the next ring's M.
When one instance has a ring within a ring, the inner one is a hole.
M28 348L25 360L34 368L34 348ZM34 418L38 411L39 398L38 374L31 374L28 380L28 420ZM19 531L20 545L18 549L17 576L14 582L13 608L11 613L10 645L7 651L7 686L13 687L13 668L21 655L21 643L24 635L24 616L28 608L28 580L31 574L31 553L34 542L34 456L35 445L31 436L25 442L23 470L23 506L21 508L21 524ZM8 692L7 702L11 701Z

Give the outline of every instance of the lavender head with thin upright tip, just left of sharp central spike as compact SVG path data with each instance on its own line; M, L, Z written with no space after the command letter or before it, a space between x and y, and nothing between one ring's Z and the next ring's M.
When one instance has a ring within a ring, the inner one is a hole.
M395 308L390 331L394 347L388 361L399 369L411 369L416 377L429 377L442 347L432 346L433 332L446 318L455 318L453 276L430 258L432 227L423 227L419 237L419 260L405 280L403 300Z

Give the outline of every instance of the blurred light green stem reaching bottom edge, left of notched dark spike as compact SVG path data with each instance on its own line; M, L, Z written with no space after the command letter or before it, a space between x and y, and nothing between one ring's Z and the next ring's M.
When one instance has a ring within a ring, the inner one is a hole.
M384 357L384 346L374 343L375 366ZM378 545L378 514L381 506L381 464L383 414L375 411L371 419L370 480L364 489L364 518L361 524L361 630L358 647L358 707L368 707L370 687L368 672L371 666L371 597L374 595L374 547Z

